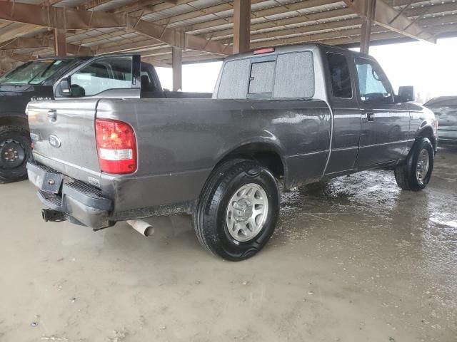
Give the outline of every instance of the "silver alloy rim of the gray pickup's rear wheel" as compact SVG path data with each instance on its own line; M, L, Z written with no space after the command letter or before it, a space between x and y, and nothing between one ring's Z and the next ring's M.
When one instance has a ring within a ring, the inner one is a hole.
M243 185L231 197L226 224L233 239L246 242L262 230L268 216L268 197L256 183Z

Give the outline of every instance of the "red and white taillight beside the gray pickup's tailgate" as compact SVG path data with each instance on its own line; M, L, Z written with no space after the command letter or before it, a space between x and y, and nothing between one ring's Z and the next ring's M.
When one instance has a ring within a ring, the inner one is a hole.
M129 124L96 119L95 136L102 172L121 175L136 171L136 138Z

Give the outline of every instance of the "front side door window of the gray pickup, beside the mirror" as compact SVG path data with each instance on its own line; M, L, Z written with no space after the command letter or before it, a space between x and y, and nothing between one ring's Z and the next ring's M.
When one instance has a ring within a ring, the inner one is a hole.
M356 58L356 70L361 100L370 102L391 98L391 86L377 63L366 58Z

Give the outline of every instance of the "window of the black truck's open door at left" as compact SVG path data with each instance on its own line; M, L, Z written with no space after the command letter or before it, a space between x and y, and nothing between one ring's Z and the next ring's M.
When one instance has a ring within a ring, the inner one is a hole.
M71 95L92 96L109 89L131 88L132 57L103 58L71 75Z

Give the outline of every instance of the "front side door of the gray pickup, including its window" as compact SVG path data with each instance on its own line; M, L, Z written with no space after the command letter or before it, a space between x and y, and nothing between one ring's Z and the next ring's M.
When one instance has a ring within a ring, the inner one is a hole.
M356 57L356 83L362 123L357 168L372 167L403 157L410 115L393 103L392 86L376 61Z

